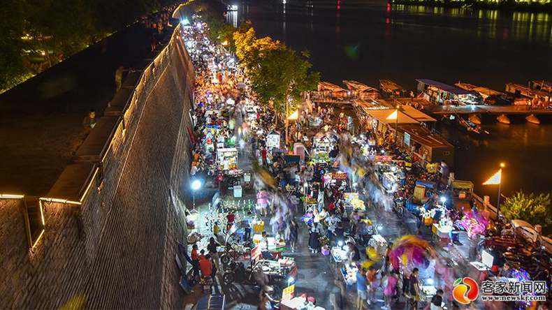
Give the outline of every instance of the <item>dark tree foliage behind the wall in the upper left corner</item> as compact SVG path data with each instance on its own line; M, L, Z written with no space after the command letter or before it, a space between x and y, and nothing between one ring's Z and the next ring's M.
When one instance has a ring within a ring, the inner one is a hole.
M175 0L3 0L0 93Z

